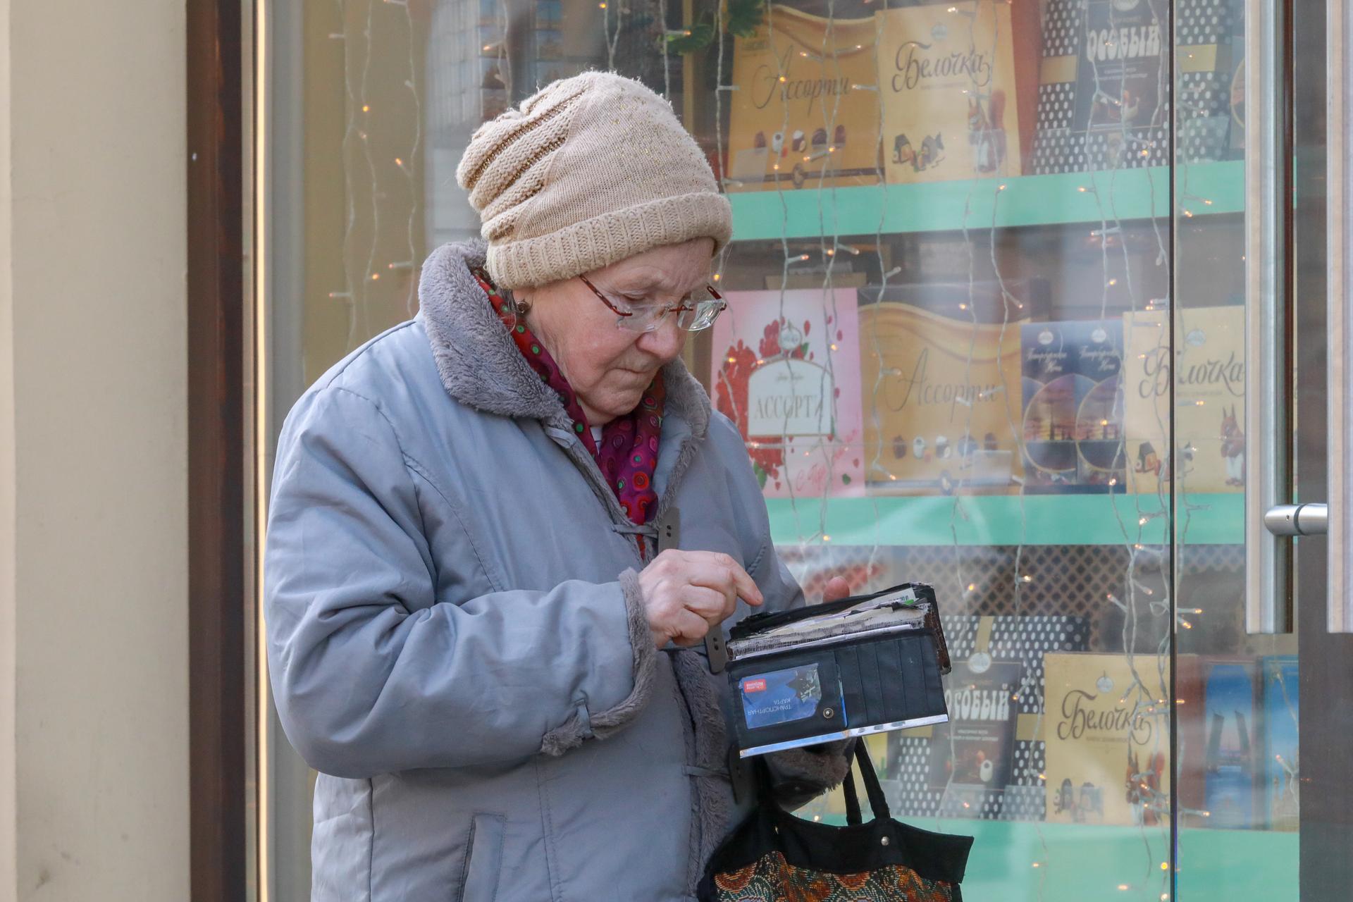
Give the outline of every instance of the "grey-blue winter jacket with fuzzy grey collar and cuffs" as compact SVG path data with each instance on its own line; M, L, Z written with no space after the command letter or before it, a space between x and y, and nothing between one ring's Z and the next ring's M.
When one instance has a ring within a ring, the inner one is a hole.
M319 771L311 898L686 901L748 806L727 682L653 649L639 527L490 310L482 260L436 252L418 316L307 391L277 448L268 660ZM736 427L679 361L664 377L659 511L769 607L802 603ZM801 790L843 774L777 767Z

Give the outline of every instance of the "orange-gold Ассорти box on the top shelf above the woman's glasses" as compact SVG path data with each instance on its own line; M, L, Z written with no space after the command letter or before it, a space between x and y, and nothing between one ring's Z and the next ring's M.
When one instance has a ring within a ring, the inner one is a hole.
M728 191L878 184L875 34L874 16L773 5L736 39Z

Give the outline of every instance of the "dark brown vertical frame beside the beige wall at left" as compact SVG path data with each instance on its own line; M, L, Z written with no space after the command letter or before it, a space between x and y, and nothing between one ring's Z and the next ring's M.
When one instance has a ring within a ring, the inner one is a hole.
M189 0L188 696L195 902L248 887L244 60L241 0Z

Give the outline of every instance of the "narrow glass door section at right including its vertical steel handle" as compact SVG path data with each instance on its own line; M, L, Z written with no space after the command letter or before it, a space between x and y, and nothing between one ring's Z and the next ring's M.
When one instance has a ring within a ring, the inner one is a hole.
M1299 898L1302 680L1289 622L1291 540L1268 533L1262 518L1291 500L1292 437L1307 419L1291 392L1287 312L1308 291L1292 281L1298 239L1308 239L1292 233L1292 177L1306 170L1293 166L1291 149L1291 16L1300 5L1230 4L1233 39L1215 60L1196 39L1215 8L1176 7L1168 412L1180 899ZM1230 133L1224 172L1191 151L1214 123ZM1210 179L1214 172L1220 177ZM1214 214L1220 197L1230 199L1227 210ZM1321 257L1307 264L1319 266ZM1323 308L1323 296L1318 303Z

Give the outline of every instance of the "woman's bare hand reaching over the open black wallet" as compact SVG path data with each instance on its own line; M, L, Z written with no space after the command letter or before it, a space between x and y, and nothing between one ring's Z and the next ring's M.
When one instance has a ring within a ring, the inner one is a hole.
M752 606L764 600L747 571L720 552L670 548L639 573L639 587L658 648L700 642L732 615L739 598Z

